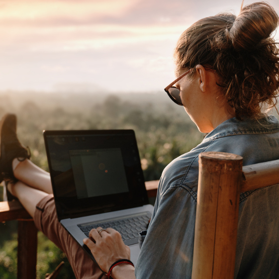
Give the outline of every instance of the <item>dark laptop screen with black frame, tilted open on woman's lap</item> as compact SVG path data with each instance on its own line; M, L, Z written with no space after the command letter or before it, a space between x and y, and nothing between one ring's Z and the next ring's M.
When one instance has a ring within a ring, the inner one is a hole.
M58 219L148 204L134 131L44 131Z

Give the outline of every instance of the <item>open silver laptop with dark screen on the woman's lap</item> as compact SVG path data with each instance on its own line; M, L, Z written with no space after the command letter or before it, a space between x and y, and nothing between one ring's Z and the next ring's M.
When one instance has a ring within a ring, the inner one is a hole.
M94 260L82 240L92 228L114 228L131 249L135 264L138 233L145 230L148 204L133 130L44 131L57 216Z

